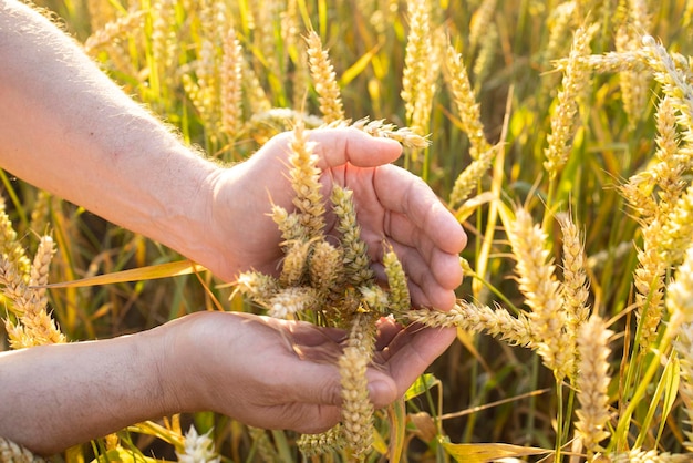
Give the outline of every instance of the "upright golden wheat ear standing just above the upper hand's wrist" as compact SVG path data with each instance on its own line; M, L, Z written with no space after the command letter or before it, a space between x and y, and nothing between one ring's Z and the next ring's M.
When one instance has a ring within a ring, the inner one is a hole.
M240 135L242 124L242 49L236 30L229 28L221 59L221 128L231 138Z

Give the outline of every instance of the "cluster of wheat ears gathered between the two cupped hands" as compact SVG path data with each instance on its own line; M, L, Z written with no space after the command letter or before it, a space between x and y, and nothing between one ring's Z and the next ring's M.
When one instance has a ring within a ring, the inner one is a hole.
M373 128L380 123L358 124ZM296 210L275 205L271 216L281 230L285 257L278 278L257 271L242 274L238 288L278 318L300 318L349 331L339 368L342 383L342 423L324 435L303 436L304 453L345 446L354 456L371 445L373 405L369 400L366 367L375 344L376 320L392 315L404 320L410 310L406 276L394 250L384 244L387 289L375 280L349 188L334 185L330 195L335 244L325 235L325 200L317 156L301 121L293 131L289 155Z

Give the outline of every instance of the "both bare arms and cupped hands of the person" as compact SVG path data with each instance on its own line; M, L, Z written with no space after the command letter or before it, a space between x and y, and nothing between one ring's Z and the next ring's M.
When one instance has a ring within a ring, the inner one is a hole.
M290 134L232 168L208 162L13 0L0 0L0 62L3 168L221 280L250 268L276 272L280 236L267 213L270 198L291 204ZM374 260L385 238L411 278L414 305L452 308L466 237L423 181L389 164L400 145L354 128L310 138L323 193L334 183L354 191ZM382 276L382 266L375 269ZM383 320L369 371L373 402L401 397L454 337L454 329ZM200 312L127 337L0 353L0 435L53 453L145 419L200 410L260 428L324 431L339 421L333 359L343 338L307 323Z

